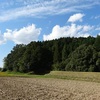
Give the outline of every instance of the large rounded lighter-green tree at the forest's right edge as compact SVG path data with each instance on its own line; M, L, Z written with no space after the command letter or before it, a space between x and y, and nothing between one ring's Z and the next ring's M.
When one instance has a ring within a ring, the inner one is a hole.
M96 50L91 45L79 46L68 58L66 70L72 71L100 71L97 69ZM99 64L97 62L97 64Z

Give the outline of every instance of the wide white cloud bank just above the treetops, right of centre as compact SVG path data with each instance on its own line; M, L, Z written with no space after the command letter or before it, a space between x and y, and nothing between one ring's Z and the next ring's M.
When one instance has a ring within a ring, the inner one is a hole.
M76 25L60 27L56 25L53 27L52 32L49 35L43 35L43 40L58 39L60 37L88 37L93 26L89 25Z

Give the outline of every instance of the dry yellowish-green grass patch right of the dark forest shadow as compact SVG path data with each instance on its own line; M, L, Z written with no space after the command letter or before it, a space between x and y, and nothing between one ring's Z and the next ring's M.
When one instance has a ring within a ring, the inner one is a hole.
M48 74L54 78L68 79L68 80L80 80L90 82L100 82L99 72L67 72L67 71L52 71Z

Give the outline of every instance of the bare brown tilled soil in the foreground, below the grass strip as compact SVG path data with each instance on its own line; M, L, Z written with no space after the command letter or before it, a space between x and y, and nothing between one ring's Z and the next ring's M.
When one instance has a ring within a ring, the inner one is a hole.
M100 100L100 83L0 77L0 100Z

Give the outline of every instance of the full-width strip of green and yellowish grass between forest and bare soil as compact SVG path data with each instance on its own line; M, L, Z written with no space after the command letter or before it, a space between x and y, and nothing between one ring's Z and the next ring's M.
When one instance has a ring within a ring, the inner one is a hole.
M79 80L89 82L100 82L99 72L66 72L66 71L51 71L45 75L30 75L28 73L19 72L0 72L1 77L29 77L29 78L55 78L66 80Z

